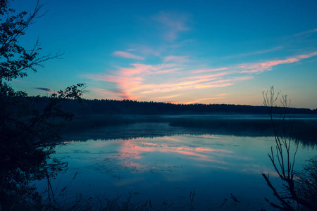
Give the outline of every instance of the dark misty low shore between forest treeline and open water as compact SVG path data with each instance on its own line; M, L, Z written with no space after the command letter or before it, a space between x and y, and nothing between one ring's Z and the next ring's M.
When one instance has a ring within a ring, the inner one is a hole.
M278 121L278 115L274 121ZM65 132L84 132L135 123L168 123L172 127L204 129L211 134L273 136L268 115L75 115ZM317 115L294 115L291 133L294 140L315 145Z

